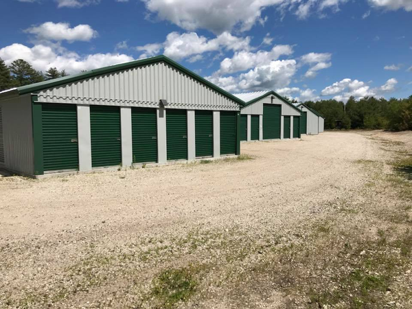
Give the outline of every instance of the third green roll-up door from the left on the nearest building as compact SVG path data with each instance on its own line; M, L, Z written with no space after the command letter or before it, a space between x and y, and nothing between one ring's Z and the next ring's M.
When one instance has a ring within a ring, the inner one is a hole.
M157 162L156 108L132 108L133 162Z

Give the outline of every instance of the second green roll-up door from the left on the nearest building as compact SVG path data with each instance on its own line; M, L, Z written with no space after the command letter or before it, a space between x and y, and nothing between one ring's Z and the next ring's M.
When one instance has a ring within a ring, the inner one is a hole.
M122 164L122 133L117 106L90 106L91 165Z

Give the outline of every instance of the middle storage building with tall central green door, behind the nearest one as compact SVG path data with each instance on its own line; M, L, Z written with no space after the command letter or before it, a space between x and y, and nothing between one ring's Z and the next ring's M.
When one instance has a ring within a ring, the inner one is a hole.
M240 140L300 138L299 108L275 91L236 93L246 102L240 113Z

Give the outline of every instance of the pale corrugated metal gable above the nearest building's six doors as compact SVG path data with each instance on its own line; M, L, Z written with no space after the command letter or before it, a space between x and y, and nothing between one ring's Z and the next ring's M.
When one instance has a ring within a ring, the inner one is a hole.
M38 102L113 106L159 107L160 99L168 100L168 108L240 109L229 98L165 62L89 78L38 94Z

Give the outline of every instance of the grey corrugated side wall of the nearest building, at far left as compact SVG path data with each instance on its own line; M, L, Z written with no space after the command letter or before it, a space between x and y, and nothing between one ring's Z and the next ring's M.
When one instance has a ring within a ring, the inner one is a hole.
M14 172L34 174L32 97L1 101L4 166Z

